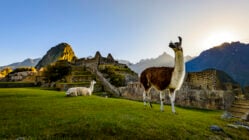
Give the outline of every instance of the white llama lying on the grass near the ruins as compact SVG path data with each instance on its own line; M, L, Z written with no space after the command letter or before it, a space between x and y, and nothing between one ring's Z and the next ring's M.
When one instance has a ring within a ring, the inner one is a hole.
M69 88L66 92L67 96L91 96L94 90L94 84L96 82L93 80L91 81L90 87L73 87Z

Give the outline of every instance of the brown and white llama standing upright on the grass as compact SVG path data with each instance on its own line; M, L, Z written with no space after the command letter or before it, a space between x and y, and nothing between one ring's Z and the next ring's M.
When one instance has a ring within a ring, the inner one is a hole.
M172 112L175 113L175 93L181 88L185 76L185 63L182 50L182 38L179 36L179 42L169 43L169 47L175 52L174 67L151 67L145 69L140 76L140 82L145 91L143 93L144 105L146 101L151 105L150 89L155 88L160 92L161 111L164 111L163 102L165 99L165 91L168 91Z

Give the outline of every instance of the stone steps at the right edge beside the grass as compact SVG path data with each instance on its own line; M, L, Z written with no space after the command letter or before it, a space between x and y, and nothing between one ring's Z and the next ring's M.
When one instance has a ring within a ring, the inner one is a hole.
M233 117L249 121L249 100L236 100L228 110Z

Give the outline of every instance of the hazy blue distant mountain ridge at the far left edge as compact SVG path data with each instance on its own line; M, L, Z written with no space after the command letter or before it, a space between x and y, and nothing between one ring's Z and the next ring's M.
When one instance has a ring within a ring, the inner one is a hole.
M34 67L37 65L37 63L41 60L41 58L31 59L27 58L23 60L22 62L15 62L6 66L1 66L0 70L5 67L10 67L12 69L18 68L18 67Z

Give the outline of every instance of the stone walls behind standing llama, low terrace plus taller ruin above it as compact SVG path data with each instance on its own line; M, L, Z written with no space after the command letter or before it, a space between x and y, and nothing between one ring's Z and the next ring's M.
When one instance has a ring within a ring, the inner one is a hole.
M216 70L188 73L181 89L176 92L175 104L201 109L228 109L235 96L242 94L242 90L237 84L221 81ZM139 82L130 83L119 90L124 98L143 100L144 89ZM151 94L152 101L159 103L159 92L152 89ZM168 93L166 95L165 102L170 104Z

